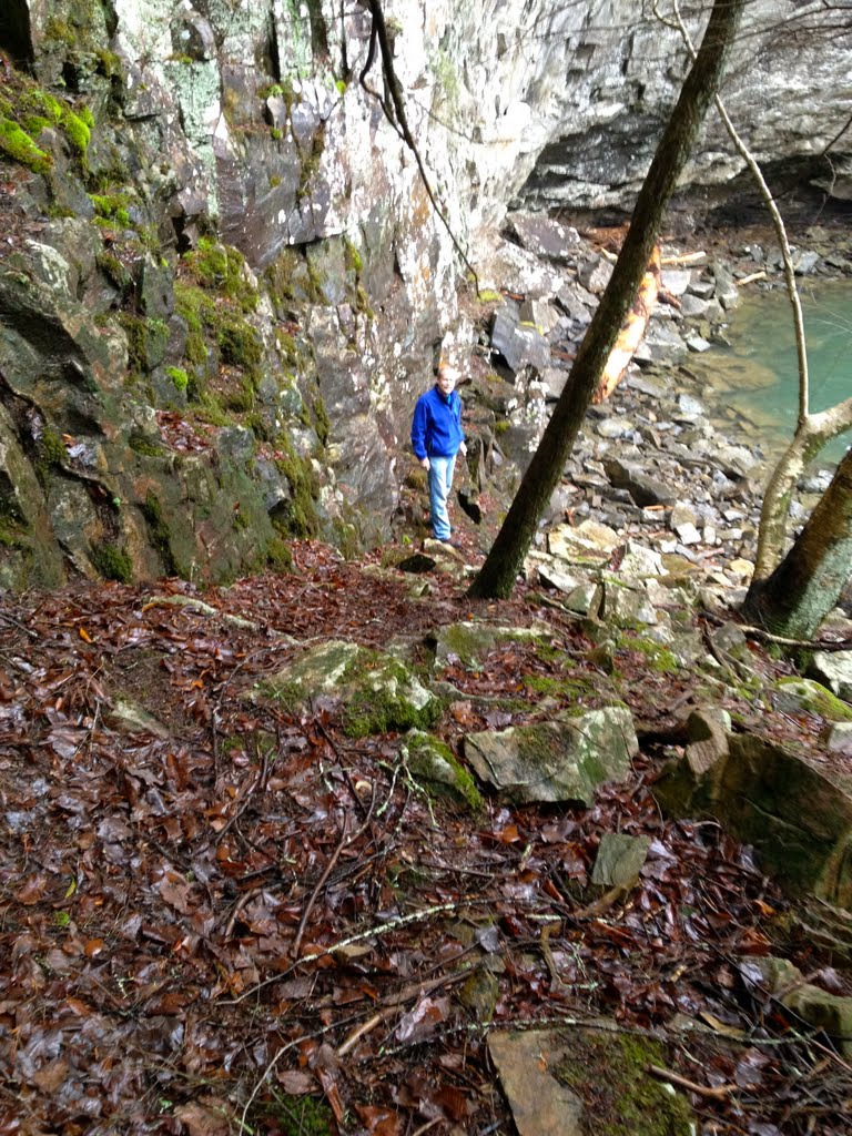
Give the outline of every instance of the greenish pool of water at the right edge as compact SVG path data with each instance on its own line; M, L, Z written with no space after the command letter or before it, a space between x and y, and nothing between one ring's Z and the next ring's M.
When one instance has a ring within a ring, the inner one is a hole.
M852 281L800 284L810 373L810 410L825 410L852 395ZM795 429L799 365L793 309L786 290L746 295L725 329L729 346L690 360L707 384L717 412L737 420L749 444L767 458L780 453ZM816 463L837 461L852 432L834 438Z

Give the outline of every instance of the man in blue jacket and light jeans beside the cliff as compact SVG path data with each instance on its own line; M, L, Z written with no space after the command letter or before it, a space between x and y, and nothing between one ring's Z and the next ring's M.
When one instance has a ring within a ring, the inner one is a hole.
M461 429L461 399L454 386L459 371L445 359L437 365L435 385L421 394L411 423L415 456L429 475L429 521L436 541L450 541L446 499L452 486L456 454L467 453Z

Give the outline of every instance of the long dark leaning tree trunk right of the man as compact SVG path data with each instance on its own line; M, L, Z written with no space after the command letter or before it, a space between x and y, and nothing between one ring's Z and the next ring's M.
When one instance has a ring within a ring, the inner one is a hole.
M607 359L648 272L660 223L716 94L744 6L745 0L713 0L701 48L642 183L621 252L580 343L569 382L469 595L507 599L511 594L538 518L562 476Z

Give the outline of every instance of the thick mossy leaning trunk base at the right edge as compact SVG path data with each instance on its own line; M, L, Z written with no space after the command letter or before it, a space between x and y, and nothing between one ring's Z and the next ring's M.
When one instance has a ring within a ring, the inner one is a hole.
M787 638L811 640L852 578L852 450L841 461L793 548L755 580L743 615Z

